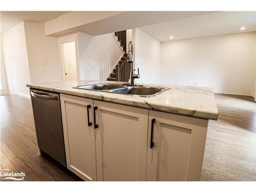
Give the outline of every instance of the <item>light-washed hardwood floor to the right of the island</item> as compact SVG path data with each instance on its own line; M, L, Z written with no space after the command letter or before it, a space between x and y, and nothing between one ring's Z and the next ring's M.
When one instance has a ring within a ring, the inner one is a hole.
M208 124L202 181L256 181L256 102L215 94L219 117Z

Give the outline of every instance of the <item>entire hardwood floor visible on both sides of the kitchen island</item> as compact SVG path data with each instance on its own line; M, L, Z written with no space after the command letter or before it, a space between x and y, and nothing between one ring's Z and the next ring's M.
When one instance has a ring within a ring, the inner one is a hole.
M0 169L25 172L26 181L79 180L39 156L31 101L0 96ZM218 121L209 121L201 181L256 181L256 103L249 96L216 94Z

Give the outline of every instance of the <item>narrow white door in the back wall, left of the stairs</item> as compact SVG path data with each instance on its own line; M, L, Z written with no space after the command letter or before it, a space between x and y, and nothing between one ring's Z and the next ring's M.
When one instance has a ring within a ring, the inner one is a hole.
M66 80L77 80L75 41L62 43L62 60Z

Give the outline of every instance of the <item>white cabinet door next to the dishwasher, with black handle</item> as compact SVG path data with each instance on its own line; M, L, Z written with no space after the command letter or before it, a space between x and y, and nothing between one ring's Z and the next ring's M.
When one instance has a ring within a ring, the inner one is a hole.
M93 100L60 94L60 102L68 169L96 181Z

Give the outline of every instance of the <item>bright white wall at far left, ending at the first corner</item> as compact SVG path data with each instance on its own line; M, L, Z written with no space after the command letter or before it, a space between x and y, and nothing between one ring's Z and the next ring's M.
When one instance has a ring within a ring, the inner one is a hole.
M26 83L30 83L30 73L24 22L4 32L1 37L9 93L29 95Z

